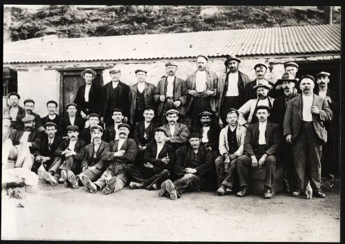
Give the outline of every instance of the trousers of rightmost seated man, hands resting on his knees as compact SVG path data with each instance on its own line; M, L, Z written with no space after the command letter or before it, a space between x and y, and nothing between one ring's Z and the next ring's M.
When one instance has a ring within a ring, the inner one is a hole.
M262 157L262 155L255 155L257 161ZM248 155L242 155L237 158L236 168L239 178L240 187L248 187L248 169L252 165L252 158ZM275 179L275 156L270 155L266 158L264 162L265 168L265 183L266 187L272 188L273 180Z

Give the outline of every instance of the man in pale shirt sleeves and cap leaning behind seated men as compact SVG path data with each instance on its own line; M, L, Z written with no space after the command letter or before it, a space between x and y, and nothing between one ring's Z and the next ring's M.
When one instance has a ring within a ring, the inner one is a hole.
M270 89L272 89L272 86L266 80L260 81L257 86L253 87L253 90L257 93L257 98L249 100L239 108L239 124L247 126L246 124L258 122L257 117L254 116L257 106L268 106L272 109L274 99L268 96Z

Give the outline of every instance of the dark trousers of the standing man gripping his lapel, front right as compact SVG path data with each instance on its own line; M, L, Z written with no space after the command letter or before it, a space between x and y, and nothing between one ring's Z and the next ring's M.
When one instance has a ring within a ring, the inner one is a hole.
M299 135L293 140L293 166L295 190L304 191L307 181L306 171L313 190L321 185L322 142L314 129L313 122L301 124Z

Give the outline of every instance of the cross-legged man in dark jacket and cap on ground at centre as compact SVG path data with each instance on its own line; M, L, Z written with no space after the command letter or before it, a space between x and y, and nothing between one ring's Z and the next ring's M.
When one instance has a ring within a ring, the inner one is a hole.
M155 144L146 149L144 165L127 167L128 175L134 180L130 182L130 189L157 189L157 185L169 178L175 150L165 142L166 131L161 128L155 129Z

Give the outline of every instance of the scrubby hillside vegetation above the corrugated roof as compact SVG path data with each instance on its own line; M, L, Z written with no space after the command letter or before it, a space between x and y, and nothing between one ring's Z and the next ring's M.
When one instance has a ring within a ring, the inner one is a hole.
M333 23L340 23L339 10L333 11ZM325 24L324 10L277 6L106 6L91 10L46 6L37 12L4 9L5 41L45 35L103 37L305 24Z

